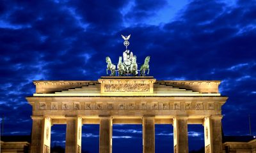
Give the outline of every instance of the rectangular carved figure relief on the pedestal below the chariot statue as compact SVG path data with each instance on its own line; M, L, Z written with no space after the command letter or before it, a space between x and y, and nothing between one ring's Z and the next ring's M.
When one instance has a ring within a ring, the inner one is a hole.
M105 92L149 92L149 84L105 84Z

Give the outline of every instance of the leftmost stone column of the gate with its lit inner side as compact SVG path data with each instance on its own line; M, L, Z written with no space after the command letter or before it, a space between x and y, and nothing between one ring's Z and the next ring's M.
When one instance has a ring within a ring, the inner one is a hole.
M32 117L30 152L50 153L51 149L51 118Z

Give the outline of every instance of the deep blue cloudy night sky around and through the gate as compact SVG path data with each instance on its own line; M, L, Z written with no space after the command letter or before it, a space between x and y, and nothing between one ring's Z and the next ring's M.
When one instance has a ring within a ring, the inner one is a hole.
M3 135L30 135L33 80L97 80L105 57L150 55L157 80L222 80L225 135L256 135L256 1L0 1L0 115ZM2 120L2 119L1 119ZM2 120L3 121L3 120ZM204 146L189 125L189 150ZM65 145L52 126L52 145ZM113 152L141 152L141 125L114 125ZM84 125L82 149L99 151L99 125ZM173 152L173 126L156 125L156 152Z

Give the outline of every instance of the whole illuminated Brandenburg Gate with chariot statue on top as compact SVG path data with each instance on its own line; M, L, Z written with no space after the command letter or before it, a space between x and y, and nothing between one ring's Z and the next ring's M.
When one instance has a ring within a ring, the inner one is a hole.
M202 124L205 152L222 152L221 106L227 97L218 90L220 81L146 77L150 57L137 70L136 56L127 50L130 36L122 36L126 47L124 62L119 57L115 66L106 57L111 77L95 81L33 82L36 92L26 98L33 108L31 153L50 152L54 124L67 124L67 153L81 152L84 124L100 125L100 153L112 152L113 124L142 124L145 153L155 152L155 124L173 125L175 153L188 153L188 124ZM115 77L116 67L118 77Z

